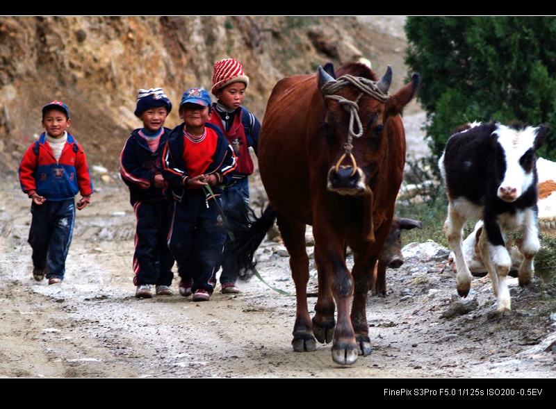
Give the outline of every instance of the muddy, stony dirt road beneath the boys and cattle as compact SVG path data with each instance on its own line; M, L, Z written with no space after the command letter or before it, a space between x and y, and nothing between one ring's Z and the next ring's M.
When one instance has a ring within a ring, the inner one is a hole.
M77 212L61 285L33 281L30 201L12 178L1 184L2 377L556 376L556 317L543 312L543 281L535 277L523 290L512 279L513 313L498 317L489 278L475 278L470 296L459 299L448 249L433 242L408 244L405 264L388 270L386 297L368 298L372 353L351 367L332 361L330 344L293 352L295 298L271 288L295 291L287 252L277 241L265 240L258 251L257 269L268 285L256 277L240 281L237 295L221 294L218 285L211 301L195 303L177 293L176 278L174 295L136 299L135 219L126 187L117 175L93 173L96 192ZM254 200L263 195L256 183ZM316 287L311 269L309 291ZM310 311L315 302L309 298Z

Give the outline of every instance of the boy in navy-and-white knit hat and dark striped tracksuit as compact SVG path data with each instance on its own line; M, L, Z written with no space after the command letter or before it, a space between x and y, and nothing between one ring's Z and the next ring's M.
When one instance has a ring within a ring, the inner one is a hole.
M164 127L172 110L162 88L139 90L135 115L143 122L127 138L120 157L120 175L129 187L137 225L133 254L133 284L137 298L172 295L174 256L167 247L170 201L165 197L162 151L170 129Z

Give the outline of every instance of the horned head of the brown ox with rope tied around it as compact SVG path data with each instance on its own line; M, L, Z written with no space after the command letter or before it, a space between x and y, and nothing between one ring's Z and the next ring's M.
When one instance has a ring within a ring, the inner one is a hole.
M359 63L342 67L337 79L331 64L319 67L317 74L327 108L322 124L329 147L327 190L352 196L366 194L380 169L379 162L384 160L386 122L411 101L418 76L404 87L409 87L409 92L400 90L390 96L390 66L378 81L368 66Z

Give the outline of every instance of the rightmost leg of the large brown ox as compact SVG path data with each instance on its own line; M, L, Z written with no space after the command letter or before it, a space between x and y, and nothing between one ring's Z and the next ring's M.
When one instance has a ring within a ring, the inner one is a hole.
M369 325L367 322L367 296L370 283L369 265L375 265L376 261L368 262L368 260L359 260L355 258L352 269L354 280L354 294L352 303L352 313L350 315L355 340L357 342L357 353L362 356L370 354Z

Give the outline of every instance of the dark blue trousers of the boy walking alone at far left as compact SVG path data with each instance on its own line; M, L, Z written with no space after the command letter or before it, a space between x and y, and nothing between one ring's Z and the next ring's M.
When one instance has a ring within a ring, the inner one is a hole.
M31 228L27 242L33 249L33 267L45 270L47 278L64 278L75 221L75 200L47 200L31 204Z

